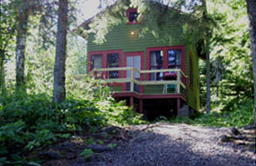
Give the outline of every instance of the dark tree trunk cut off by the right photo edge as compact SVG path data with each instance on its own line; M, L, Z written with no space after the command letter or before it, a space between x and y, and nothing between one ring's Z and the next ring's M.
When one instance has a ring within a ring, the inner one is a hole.
M251 50L253 56L253 80L254 80L254 119L256 125L256 0L247 0L247 13L250 21Z

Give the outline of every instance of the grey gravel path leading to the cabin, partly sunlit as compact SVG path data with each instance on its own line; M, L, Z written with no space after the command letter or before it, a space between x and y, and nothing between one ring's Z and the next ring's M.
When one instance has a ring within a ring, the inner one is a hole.
M93 166L255 166L253 152L220 143L226 128L157 123L133 126L137 133L129 143L104 154L104 162ZM139 131L139 132L138 132Z

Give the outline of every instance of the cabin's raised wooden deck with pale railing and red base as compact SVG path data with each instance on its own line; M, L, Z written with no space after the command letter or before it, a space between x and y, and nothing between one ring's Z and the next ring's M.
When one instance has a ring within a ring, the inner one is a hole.
M110 78L110 73L118 71L117 78ZM150 79L152 74L161 73L162 79ZM165 73L175 73L172 79L164 79ZM112 96L115 98L125 98L131 106L134 100L138 101L138 112L143 113L144 101L148 100L174 100L177 111L180 109L181 102L187 100L187 76L182 70L137 70L131 67L105 68L91 70L91 76L103 79L112 89ZM115 90L115 88L117 88ZM149 87L158 87L152 90ZM172 91L168 90L172 87ZM145 91L145 89L148 89Z

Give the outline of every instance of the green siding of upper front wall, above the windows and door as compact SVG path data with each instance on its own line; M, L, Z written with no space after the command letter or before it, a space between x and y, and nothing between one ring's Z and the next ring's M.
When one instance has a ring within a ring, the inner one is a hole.
M92 43L94 40L93 35L88 38L88 51L98 50L123 50L123 52L145 51L148 47L168 46L168 45L181 45L185 41L176 40L172 43L158 41L152 34L148 33L144 37L131 37L131 30L138 31L139 24L120 24L113 28L105 37L106 41L103 44ZM173 33L181 34L181 27L173 24ZM177 35L179 37L179 35Z

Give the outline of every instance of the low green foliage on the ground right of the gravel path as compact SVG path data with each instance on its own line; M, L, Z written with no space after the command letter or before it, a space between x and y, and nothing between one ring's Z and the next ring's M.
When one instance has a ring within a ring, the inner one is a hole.
M230 107L223 108L223 105L214 108L210 115L200 114L195 118L176 118L172 123L188 123L192 125L212 126L212 127L243 127L253 123L253 100L244 100L238 103L233 100ZM225 106L226 107L226 106ZM226 111L219 111L226 110Z

